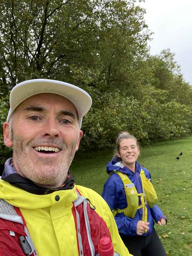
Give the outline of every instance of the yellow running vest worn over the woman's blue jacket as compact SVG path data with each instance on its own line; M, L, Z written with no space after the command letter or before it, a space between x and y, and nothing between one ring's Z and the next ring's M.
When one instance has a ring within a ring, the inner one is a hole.
M150 182L150 179L146 178L143 169L141 169L140 176L144 193L139 194L137 193L135 184L130 181L126 174L123 174L122 172L115 170L111 173L117 173L121 178L127 199L127 207L122 210L117 208L112 210L113 215L115 216L117 213L124 213L125 216L134 218L136 211L140 208L143 208L142 221L147 222L146 204L148 204L149 207L152 208L157 203L158 197L152 183ZM138 200L139 196L141 197L140 205Z

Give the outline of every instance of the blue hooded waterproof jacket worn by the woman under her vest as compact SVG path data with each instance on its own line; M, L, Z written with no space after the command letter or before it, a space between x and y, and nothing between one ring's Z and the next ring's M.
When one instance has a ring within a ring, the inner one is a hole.
M147 169L144 167L141 168L138 162L135 163L135 173L133 173L128 167L121 168L120 166L116 165L117 161L116 158L113 158L111 162L107 163L107 173L114 170L118 170L124 174L127 174L129 179L132 183L135 184L137 189L137 193L143 193L142 182L140 177L141 169L145 172L145 176L148 179L151 179L151 175ZM125 197L124 185L119 177L118 174L112 173L104 185L104 190L102 193L102 197L108 203L111 210L118 208L124 209L127 207L127 200ZM139 205L141 201L139 202ZM115 216L115 221L119 230L119 233L123 234L124 236L137 236L136 229L137 229L137 222L142 220L142 208L138 209L134 218L129 218L125 216L123 213L117 213ZM158 222L161 218L166 218L158 205L156 204L153 208L149 208L147 205L147 221L149 224L149 230L147 233L144 233L143 236L147 236L153 230L154 222Z

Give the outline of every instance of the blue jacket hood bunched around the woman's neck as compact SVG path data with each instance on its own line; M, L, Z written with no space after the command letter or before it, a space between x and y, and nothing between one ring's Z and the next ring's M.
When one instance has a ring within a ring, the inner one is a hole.
M122 173L130 173L133 174L133 172L127 167L121 167L121 162L118 162L117 157L113 157L113 159L107 163L107 173L109 174L110 172L113 172L114 170L120 171ZM135 172L141 172L141 166L139 163L136 161L135 162Z

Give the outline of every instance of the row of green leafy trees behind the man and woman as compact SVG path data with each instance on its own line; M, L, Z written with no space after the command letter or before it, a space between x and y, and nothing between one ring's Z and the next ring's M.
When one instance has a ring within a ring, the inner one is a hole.
M15 84L47 78L93 99L82 150L110 147L121 130L139 141L190 133L191 86L169 49L149 55L144 14L135 0L1 1L1 123ZM7 155L2 135L0 145Z

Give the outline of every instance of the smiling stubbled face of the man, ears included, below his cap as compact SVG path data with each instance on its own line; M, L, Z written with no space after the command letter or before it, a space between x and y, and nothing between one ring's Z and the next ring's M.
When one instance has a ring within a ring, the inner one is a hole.
M34 95L14 112L13 138L4 124L4 143L13 145L16 171L43 187L59 187L78 150L83 132L75 106L56 94Z

